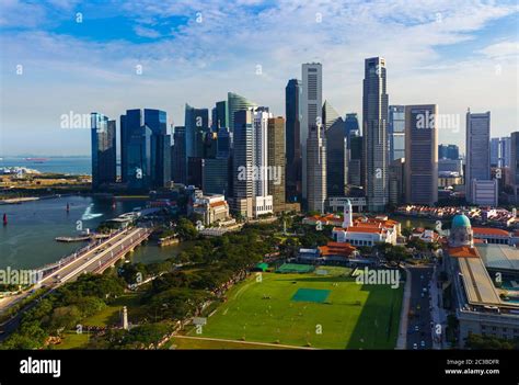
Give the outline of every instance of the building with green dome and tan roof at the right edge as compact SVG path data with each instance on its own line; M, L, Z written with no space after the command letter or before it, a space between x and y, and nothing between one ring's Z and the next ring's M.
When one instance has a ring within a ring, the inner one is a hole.
M519 250L474 239L470 219L459 214L443 254L460 347L471 333L519 338Z

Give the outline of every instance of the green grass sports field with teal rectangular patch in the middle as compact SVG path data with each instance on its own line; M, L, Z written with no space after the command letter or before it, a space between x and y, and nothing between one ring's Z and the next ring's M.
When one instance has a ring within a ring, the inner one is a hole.
M359 285L346 269L252 275L232 287L197 335L324 349L394 349L403 285Z

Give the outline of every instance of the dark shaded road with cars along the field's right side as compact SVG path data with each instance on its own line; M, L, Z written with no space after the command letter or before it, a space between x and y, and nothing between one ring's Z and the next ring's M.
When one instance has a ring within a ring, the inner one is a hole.
M413 313L413 317L408 320L406 349L432 349L429 297L432 267L416 265L410 267L408 270L412 280L410 312Z

